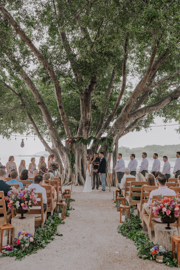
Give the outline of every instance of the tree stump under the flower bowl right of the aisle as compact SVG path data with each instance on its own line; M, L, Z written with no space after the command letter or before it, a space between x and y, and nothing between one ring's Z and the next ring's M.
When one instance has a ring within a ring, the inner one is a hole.
M178 228L171 226L171 230L165 229L165 224L154 225L155 240L165 249L172 250L172 235L179 235Z

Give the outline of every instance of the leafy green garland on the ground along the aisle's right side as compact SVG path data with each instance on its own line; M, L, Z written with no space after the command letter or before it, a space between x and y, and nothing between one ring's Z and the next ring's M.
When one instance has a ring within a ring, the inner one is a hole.
M130 212L130 219L126 219L123 225L118 226L117 230L123 236L134 241L138 249L137 255L140 255L139 258L151 261L155 260L156 255L152 255L150 251L150 249L154 247L154 244L149 241L148 235L142 232L140 223L140 218L137 215L134 216L133 213ZM172 251L168 251L164 255L164 263L170 267L179 267L177 261L172 258Z

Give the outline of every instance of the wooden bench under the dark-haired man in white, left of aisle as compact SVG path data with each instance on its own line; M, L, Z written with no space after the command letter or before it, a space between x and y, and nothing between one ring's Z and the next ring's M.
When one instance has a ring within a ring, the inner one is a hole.
M35 225L40 225L41 228L43 226L43 224L45 223L46 221L46 218L47 218L47 211L43 211L43 198L42 198L42 193L38 193L38 197L37 198L40 198L40 201L38 201L37 204L33 204L33 206L38 206L40 207L40 209L32 209L32 208L29 208L30 211L28 211L26 214L24 215L41 215L40 217L36 217L35 218ZM15 217L15 215L17 215L18 213L16 212L16 209L15 208L12 208L11 210L11 213L12 213L12 217Z

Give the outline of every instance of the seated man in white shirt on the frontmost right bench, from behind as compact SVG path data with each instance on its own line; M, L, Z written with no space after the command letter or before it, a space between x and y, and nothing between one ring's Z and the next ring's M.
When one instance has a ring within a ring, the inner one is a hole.
M152 203L152 196L153 195L165 195L165 196L175 196L176 193L174 190L166 187L166 177L164 174L158 174L158 184L159 187L158 189L152 190L150 195L149 195L149 200L148 203L144 203L143 204L143 208L142 208L142 215L143 214L150 214L150 207L151 207L151 203Z

